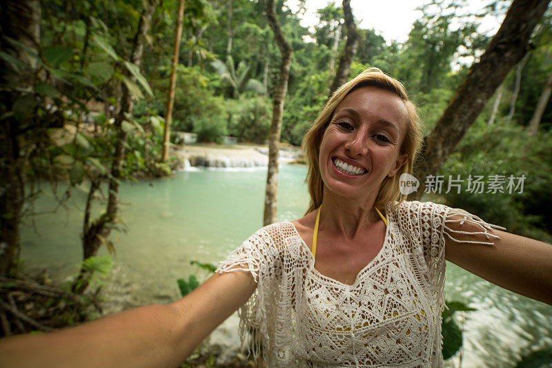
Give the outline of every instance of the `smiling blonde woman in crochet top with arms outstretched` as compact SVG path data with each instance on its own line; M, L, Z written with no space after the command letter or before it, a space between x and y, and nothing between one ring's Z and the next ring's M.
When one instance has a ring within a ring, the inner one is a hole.
M243 305L242 337L257 330L253 352L270 367L440 366L445 259L552 304L548 244L462 210L395 202L419 142L402 84L362 72L304 139L304 217L257 231L186 298L6 340L0 365L175 367Z

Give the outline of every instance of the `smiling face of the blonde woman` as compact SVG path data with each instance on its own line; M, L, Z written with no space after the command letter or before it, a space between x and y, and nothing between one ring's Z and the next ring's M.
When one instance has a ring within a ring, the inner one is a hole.
M369 86L349 93L322 137L319 166L326 190L367 200L406 162L406 106L388 90Z

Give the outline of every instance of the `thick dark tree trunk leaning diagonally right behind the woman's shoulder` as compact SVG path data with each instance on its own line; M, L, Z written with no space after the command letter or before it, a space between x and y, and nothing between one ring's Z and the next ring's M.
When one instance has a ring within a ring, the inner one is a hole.
M531 33L548 3L549 0L513 1L480 61L473 64L435 128L424 139L420 160L415 165L420 188L410 198L422 196L427 175L437 173L509 70L525 55Z

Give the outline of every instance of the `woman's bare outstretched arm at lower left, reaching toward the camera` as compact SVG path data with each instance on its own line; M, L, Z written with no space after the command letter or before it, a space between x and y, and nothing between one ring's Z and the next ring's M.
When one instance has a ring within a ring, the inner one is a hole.
M185 298L78 327L0 342L1 367L178 367L255 291L244 271L215 273Z

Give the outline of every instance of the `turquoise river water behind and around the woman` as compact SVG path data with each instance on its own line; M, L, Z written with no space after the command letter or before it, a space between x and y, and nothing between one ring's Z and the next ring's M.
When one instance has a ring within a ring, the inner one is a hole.
M300 217L308 204L304 166L282 165L278 219ZM190 260L216 263L226 258L262 226L266 168L194 169L161 180L124 183L121 218L126 232L111 239L117 254L103 291L107 311L179 297L177 278L190 273L206 278ZM60 186L58 193L63 193ZM23 226L21 258L31 271L48 268L64 280L81 259L80 232L88 186L72 191L66 207L28 217ZM43 185L34 211L55 209L57 201ZM107 254L102 249L102 254ZM552 307L495 287L449 264L447 300L468 302L477 311L461 318L464 332L462 367L513 367L520 354L552 347ZM237 342L235 318L215 340ZM458 366L460 357L447 365Z

